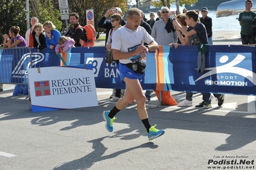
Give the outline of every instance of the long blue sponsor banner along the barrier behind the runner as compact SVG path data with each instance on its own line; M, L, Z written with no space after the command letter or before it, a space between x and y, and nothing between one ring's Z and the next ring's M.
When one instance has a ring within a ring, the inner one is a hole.
M5 49L4 49L5 50ZM37 52L32 49L32 66L59 66L60 58L55 50L44 49ZM24 56L24 54L23 54ZM96 88L125 88L119 77L118 65L105 63L105 47L76 47L67 51L67 64L92 64ZM10 55L1 56L10 58ZM22 57L21 57L22 58ZM28 59L28 58L26 58ZM198 47L179 46L178 49L159 46L156 52L149 52L142 87L162 91L194 91L211 93L230 93L238 95L256 95L255 47L244 45L209 45L206 53L205 70L198 73ZM13 62L6 74L10 79L15 68ZM26 63L26 62L24 62ZM2 65L0 65L2 66ZM25 69L26 66L18 68ZM2 70L2 68L0 69ZM6 71L7 72L7 71ZM26 82L26 70L23 73ZM3 73L0 74L1 78Z

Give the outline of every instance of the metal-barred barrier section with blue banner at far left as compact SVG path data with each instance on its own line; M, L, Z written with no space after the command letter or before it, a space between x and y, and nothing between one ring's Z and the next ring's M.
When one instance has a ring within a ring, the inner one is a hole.
M32 66L30 47L0 48L0 84L28 84Z

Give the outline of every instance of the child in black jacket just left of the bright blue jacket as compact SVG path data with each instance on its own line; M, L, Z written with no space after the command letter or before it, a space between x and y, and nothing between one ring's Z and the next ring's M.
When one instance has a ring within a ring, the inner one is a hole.
M44 33L44 28L41 23L37 23L33 27L33 47L37 48L37 51L46 48L46 34Z

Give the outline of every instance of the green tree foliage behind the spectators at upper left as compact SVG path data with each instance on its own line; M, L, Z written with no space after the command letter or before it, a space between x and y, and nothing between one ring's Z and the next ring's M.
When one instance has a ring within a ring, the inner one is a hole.
M65 26L65 20L60 19L58 1L53 0L31 0L29 15L37 17L39 22L44 24L46 20L51 20L55 24L56 29L62 32ZM25 37L26 26L26 3L19 0L0 0L0 43L3 43L3 35L9 32L10 27L19 26L21 28L20 35ZM99 19L112 7L119 7L123 10L123 14L128 10L127 0L68 0L69 13L76 12L80 15L80 24L83 26L87 23L86 10L94 9L94 27L97 31L97 38L104 32L97 26Z

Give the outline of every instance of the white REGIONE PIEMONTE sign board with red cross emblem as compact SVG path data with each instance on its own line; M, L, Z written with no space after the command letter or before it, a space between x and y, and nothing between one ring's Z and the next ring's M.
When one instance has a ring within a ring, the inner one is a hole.
M33 112L98 105L92 65L52 66L28 70Z

